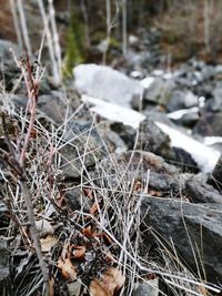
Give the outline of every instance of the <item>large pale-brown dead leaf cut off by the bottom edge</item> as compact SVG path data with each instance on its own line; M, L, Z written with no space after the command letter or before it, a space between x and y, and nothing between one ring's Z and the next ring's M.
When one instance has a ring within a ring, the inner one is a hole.
M101 279L93 279L90 284L91 296L113 296L122 285L125 277L122 272L117 267L109 267L102 275Z

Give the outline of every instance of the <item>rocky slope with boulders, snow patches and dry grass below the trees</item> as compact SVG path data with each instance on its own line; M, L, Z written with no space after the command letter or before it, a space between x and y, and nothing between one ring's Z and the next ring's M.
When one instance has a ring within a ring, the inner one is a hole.
M155 38L65 88L46 71L34 123L1 41L1 295L43 295L24 184L50 295L220 295L222 65L165 68Z

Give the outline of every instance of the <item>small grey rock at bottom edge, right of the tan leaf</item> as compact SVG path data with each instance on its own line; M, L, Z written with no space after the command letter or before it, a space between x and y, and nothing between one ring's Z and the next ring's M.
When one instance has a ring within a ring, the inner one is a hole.
M139 284L138 288L132 293L132 296L158 296L159 295L159 278L150 279Z

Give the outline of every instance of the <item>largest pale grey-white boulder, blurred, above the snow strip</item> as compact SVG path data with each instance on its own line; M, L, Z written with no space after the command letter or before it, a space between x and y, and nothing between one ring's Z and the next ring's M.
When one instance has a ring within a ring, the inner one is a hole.
M140 82L105 65L80 64L73 69L74 85L80 93L130 106L133 96L143 93Z

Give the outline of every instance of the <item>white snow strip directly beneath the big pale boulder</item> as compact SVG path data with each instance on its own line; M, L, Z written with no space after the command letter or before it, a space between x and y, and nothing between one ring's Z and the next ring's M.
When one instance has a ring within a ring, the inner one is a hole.
M105 102L85 94L82 95L82 101L94 105L91 108L91 111L95 112L100 116L114 122L122 122L124 125L130 125L133 129L138 129L140 123L145 119L143 114L134 110Z

